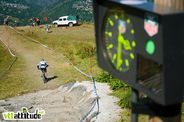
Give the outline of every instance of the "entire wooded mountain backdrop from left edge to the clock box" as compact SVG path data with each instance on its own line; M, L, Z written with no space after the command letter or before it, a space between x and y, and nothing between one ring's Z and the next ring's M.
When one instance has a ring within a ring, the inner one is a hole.
M81 20L92 20L91 0L0 0L0 24L10 16L10 25L28 25L32 17L49 21L63 15L80 15Z

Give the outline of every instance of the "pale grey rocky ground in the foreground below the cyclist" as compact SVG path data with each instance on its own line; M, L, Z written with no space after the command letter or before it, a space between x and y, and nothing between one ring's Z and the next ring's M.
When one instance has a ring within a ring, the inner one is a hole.
M17 112L22 107L27 107L29 112L34 112L36 108L45 110L42 122L119 121L121 108L117 105L118 99L109 95L111 90L107 84L96 83L96 86L99 96L98 114L98 97L90 81L68 83L54 90L43 90L1 100L0 113ZM2 114L0 118L5 122Z

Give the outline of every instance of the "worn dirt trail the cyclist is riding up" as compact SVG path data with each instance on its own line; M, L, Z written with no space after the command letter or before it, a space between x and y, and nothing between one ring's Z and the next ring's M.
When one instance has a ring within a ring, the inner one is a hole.
M24 38L8 27L1 27L0 34L2 41L15 52L18 56L18 60L23 61L22 65L25 67L25 69L23 69L25 76L27 76L29 80L31 79L32 84L35 84L35 86L40 85L43 89L45 87L55 87L58 82L66 82L67 79L64 78L67 76L70 80L71 72L74 77L78 75L78 72L66 62L66 59L61 58L61 54L48 50L43 46ZM49 82L46 85L43 84L40 72L36 69L36 65L42 58L44 58L50 65L48 68L48 77L52 78L58 76L58 78L52 80L54 82Z

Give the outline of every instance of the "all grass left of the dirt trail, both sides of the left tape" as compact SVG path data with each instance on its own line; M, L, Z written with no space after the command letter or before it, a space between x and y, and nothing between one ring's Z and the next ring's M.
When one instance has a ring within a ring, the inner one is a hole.
M7 48L0 42L0 99L15 96L18 94L16 91L24 91L27 89L24 86L20 87L24 85L23 81L25 80L24 77L20 77L20 75L23 75L20 71L22 62L18 60L12 67L13 69L15 68L15 70L8 70L13 61L14 57L9 54ZM25 89L21 90L21 88Z

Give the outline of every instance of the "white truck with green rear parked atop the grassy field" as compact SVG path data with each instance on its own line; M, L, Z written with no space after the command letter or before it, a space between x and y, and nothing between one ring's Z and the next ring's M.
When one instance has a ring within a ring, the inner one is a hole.
M58 26L62 26L62 25L68 25L70 27L72 27L73 25L78 24L78 17L76 16L62 16L59 17L58 20L55 20L52 22L52 24L54 24L56 27Z

